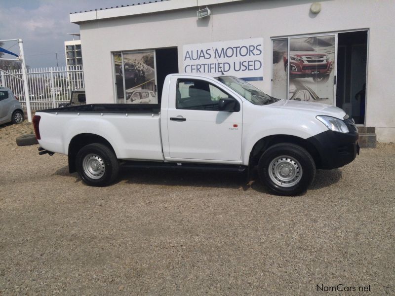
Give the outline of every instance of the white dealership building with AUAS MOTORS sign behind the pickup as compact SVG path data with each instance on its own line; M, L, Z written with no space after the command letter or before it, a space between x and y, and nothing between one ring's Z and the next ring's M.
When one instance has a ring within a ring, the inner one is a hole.
M135 88L160 102L165 75L222 70L276 97L341 107L395 142L394 15L393 0L157 0L70 20L87 103L122 103Z

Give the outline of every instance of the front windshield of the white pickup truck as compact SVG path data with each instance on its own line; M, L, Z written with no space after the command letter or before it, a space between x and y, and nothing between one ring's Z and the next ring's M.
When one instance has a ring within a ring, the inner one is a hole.
M263 91L240 78L234 76L220 76L215 79L229 86L254 105L268 105L279 101L279 99L265 94Z

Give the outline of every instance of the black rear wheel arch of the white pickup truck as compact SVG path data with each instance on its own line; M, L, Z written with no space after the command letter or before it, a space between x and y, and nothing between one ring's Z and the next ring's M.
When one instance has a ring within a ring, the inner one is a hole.
M96 134L90 134L90 133L83 133L79 134L73 137L69 143L69 148L68 148L68 156L69 156L69 172L74 173L77 171L76 168L76 156L82 147L93 144L93 143L100 143L108 148L110 148L114 154L117 156L117 153L115 152L113 146L108 142L105 138L102 136L96 135Z

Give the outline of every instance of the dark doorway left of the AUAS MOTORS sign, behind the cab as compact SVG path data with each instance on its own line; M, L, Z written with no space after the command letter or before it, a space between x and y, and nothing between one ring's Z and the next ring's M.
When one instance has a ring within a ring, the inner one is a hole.
M166 78L168 74L178 73L177 47L156 49L156 61L158 81L157 96L158 103L160 104L162 98L164 78Z

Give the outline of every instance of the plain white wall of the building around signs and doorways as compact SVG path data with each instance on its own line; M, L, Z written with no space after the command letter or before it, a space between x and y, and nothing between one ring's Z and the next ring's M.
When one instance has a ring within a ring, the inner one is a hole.
M369 29L366 125L378 140L395 142L394 0L322 0L309 12L308 0L250 0L209 6L211 16L197 20L196 8L80 23L88 103L113 103L112 52L190 43L264 38L264 81L253 84L270 93L271 37Z

